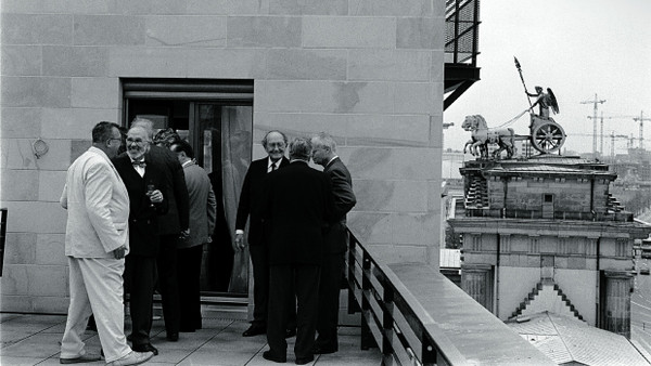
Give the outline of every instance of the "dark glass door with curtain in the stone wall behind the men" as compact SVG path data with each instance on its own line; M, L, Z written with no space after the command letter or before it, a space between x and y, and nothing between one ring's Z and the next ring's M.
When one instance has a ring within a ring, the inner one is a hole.
M140 117L154 122L154 132L176 130L190 142L197 164L210 178L217 198L217 223L213 241L204 245L202 296L246 296L248 251L233 252L231 244L237 202L251 161L251 103L127 97L125 109L127 126Z

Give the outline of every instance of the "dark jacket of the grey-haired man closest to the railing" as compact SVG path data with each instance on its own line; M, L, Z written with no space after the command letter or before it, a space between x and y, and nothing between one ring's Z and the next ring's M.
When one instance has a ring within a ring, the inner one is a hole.
M357 204L353 193L353 180L339 157L330 161L323 172L330 177L334 198L333 220L329 222L326 235L326 252L342 253L346 251L346 213Z

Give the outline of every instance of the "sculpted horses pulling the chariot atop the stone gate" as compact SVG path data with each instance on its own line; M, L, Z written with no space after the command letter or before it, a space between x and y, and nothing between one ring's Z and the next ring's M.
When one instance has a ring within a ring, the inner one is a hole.
M503 151L507 151L507 159L513 157L513 129L489 129L486 120L481 115L465 116L461 128L472 132L471 139L463 146L463 153L465 153L470 145L470 154L473 156L478 155L482 159L487 159L488 144L498 144L499 148L493 153L494 158L498 159Z

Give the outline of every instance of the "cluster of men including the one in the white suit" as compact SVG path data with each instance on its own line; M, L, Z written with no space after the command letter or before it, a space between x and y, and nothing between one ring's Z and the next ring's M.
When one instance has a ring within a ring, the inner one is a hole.
M215 225L215 195L207 173L194 169L191 147L178 142L173 152L152 144L152 136L150 120L136 119L126 136L116 123L100 122L92 146L67 171L61 204L68 211L71 305L62 364L101 358L88 354L81 340L91 314L108 365L138 365L158 354L150 340L156 284L169 341L202 327L201 248ZM183 266L178 272L177 260Z

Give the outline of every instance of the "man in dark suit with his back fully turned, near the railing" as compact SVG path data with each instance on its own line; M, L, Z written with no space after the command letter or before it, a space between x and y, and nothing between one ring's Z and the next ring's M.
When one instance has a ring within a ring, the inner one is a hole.
M261 208L269 248L269 351L263 357L286 362L284 336L295 298L297 365L314 361L322 230L333 209L330 180L308 166L310 153L309 140L292 141L291 164L268 174Z

